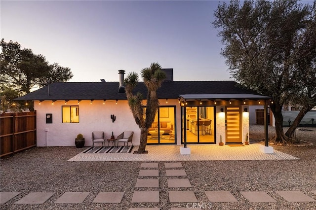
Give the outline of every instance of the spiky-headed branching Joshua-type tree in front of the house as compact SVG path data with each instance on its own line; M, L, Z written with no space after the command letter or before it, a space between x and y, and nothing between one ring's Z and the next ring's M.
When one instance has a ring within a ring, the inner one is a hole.
M136 153L145 153L148 129L155 120L156 111L159 106L157 90L161 87L162 81L166 75L165 72L161 70L161 66L158 63L152 63L149 68L147 67L141 70L140 74L148 91L146 111L142 104L141 93L137 93L136 95L133 95L132 93L133 89L138 84L138 74L136 72L128 73L124 82L129 108L133 113L136 124L140 128L140 144Z

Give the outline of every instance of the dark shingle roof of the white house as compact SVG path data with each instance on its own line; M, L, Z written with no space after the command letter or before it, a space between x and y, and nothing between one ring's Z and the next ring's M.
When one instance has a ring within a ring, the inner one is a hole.
M53 83L15 100L123 100L118 82ZM139 82L134 92L146 98L147 88ZM165 81L158 89L159 99L177 99L182 94L257 94L240 87L235 81Z

